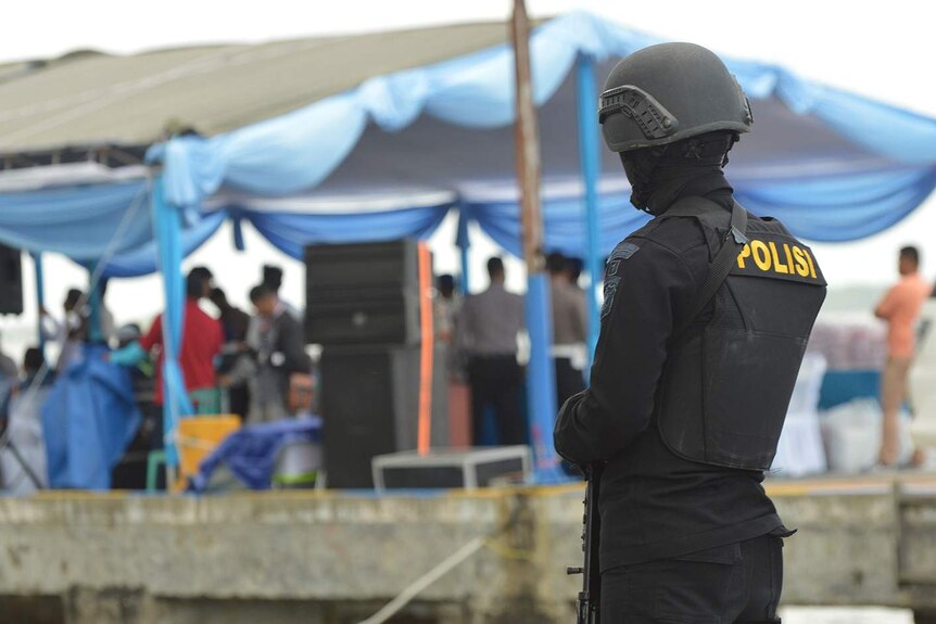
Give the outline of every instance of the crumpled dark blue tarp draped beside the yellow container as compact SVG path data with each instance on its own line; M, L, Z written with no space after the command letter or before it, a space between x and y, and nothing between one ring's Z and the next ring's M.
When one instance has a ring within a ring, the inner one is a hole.
M318 417L252 424L233 432L202 460L193 487L201 492L212 474L226 466L251 489L269 489L279 449L290 442L318 442L321 419Z

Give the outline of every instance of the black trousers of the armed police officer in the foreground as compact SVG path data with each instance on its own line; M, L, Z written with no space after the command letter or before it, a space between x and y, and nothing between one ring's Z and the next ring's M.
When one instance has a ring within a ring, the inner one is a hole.
M783 539L764 535L602 574L602 624L776 624Z

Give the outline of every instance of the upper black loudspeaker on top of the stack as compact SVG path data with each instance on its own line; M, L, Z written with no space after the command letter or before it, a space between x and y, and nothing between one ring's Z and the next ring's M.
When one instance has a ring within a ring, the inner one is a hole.
M305 338L321 345L419 342L414 240L305 247Z

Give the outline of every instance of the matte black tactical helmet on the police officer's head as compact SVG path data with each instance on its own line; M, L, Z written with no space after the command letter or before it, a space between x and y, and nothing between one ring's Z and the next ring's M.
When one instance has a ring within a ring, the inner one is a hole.
M660 43L620 61L598 107L612 152L666 145L716 130L747 132L750 104L721 59L695 43Z

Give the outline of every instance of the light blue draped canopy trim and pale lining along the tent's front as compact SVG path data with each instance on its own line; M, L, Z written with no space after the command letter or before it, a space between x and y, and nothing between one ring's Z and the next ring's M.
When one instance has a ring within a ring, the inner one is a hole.
M590 55L603 75L620 56L655 42L583 13L556 18L533 36L548 247L574 255L584 247L577 58ZM801 80L773 65L726 62L752 100L755 130L743 138L729 167L749 209L785 220L804 238L846 241L894 225L932 191L936 120ZM513 53L505 44L378 76L241 130L173 140L154 152L166 165L166 196L192 206L224 186L260 195L307 193L327 209L329 200L337 206L355 196L365 207L365 190L379 198L450 192L463 218L477 220L517 254L511 72ZM602 246L608 252L642 216L628 208L627 182L612 154L604 153L602 169ZM410 208L438 205L414 202Z

